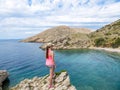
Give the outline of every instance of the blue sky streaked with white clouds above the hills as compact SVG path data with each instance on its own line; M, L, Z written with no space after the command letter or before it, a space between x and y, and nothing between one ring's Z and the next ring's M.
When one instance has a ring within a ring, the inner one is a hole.
M120 19L120 0L0 0L0 39L66 25L95 31Z

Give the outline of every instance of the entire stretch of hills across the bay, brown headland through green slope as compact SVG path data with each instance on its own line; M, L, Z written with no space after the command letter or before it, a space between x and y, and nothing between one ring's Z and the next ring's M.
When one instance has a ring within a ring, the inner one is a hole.
M42 42L44 43L41 46L43 49L48 42L55 44L54 49L78 49L89 47L120 48L120 19L94 32L86 28L57 26L22 41Z

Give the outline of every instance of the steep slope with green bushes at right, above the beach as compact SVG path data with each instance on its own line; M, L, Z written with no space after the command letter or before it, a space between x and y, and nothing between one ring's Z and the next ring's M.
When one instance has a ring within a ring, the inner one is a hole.
M90 34L93 46L120 47L120 19Z

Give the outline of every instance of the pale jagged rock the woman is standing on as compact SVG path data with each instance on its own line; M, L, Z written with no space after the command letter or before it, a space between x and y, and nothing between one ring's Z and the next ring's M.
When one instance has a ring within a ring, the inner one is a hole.
M53 80L54 88L50 88L49 90L76 90L76 88L70 84L70 79L66 71L56 73ZM46 75L44 77L25 79L10 90L48 90L48 86L49 75Z

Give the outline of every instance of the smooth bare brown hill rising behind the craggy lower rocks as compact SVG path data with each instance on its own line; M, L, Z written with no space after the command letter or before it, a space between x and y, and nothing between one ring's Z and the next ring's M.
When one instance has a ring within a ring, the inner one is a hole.
M85 28L70 28L68 26L58 26L51 29L47 29L33 37L29 37L25 40L22 40L23 42L50 42L54 41L56 39L67 37L71 34L76 33L90 33L89 29Z

